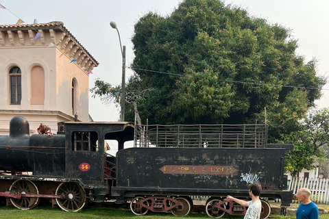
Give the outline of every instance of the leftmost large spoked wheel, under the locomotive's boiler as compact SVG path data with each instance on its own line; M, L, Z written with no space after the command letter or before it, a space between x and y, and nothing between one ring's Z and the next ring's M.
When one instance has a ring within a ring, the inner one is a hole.
M29 180L18 179L10 185L10 191L16 191L21 194L39 194L38 188L36 185ZM39 198L29 198L29 197L21 197L20 199L10 198L10 202L12 205L19 209L29 210L36 205L38 205L40 199Z

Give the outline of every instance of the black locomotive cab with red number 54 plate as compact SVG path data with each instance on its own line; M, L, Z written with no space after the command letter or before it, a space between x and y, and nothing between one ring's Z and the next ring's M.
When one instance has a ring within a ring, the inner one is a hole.
M106 140L117 140L119 150L134 140L133 123L64 123L65 177L81 179L85 185L104 185L114 179L115 157L106 154ZM109 171L110 170L110 171Z

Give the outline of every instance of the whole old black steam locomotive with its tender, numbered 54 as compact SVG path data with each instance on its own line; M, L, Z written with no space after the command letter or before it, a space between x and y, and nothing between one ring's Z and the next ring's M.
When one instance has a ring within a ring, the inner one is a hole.
M153 143L164 146L156 136ZM106 154L106 140L118 141L115 157ZM20 209L32 209L40 198L64 211L78 211L88 200L116 199L130 201L136 215L170 210L175 216L191 211L191 196L208 196L206 213L220 218L245 214L245 207L226 196L248 198L247 184L258 182L262 198L280 198L282 209L291 203L283 175L284 153L293 149L291 144L123 149L129 140L134 140L133 123L60 123L57 135L29 136L27 120L15 116L10 136L0 136L0 196ZM188 142L188 134L178 142ZM267 218L271 207L265 200L262 204L261 218Z

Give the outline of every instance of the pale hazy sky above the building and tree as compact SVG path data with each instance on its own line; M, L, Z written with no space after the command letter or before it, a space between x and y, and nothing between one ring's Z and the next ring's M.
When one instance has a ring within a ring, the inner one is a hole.
M95 57L99 66L89 77L89 86L100 77L114 85L121 83L121 50L117 31L110 27L110 21L117 23L121 42L126 46L127 66L132 63L132 38L134 24L149 11L162 16L171 14L181 1L178 0L0 0L8 10L0 9L0 25L16 24L19 18L30 24L62 21L71 34ZM300 48L297 53L306 60L315 57L319 62L319 75L328 75L329 63L329 1L328 0L235 0L226 4L239 5L249 14L265 18L269 23L279 23L293 31ZM126 70L126 81L132 72ZM319 107L329 106L329 86L324 96L317 101ZM95 121L117 121L119 109L114 104L105 106L99 99L89 101L90 116Z

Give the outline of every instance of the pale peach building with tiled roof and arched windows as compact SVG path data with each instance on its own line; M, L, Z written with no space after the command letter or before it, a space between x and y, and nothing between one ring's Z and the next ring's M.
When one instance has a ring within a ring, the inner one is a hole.
M88 72L98 64L62 22L0 25L0 135L13 116L27 118L31 133L92 120Z

